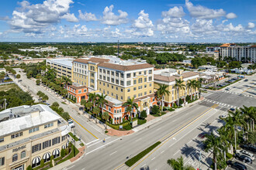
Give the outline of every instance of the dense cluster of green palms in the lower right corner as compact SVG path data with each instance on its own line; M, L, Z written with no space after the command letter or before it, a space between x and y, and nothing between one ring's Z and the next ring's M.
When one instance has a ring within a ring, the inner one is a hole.
M226 166L226 153L227 148L230 148L231 151L234 149L237 150L237 142L239 138L245 139L244 132L254 131L254 126L248 126L248 122L251 121L254 124L256 114L256 107L244 107L235 112L229 111L229 116L223 121L225 125L220 128L218 136L213 134L206 134L206 151L210 149L213 150L213 162L214 167L224 168ZM238 133L238 127L243 128L243 134ZM240 140L242 141L242 140Z

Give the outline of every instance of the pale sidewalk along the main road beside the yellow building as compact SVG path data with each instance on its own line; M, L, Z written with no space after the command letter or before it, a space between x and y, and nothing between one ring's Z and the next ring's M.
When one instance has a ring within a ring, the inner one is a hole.
M187 107L191 107L192 105L199 103L199 102L202 101L203 99L204 99L204 98L201 97L199 100L196 100L195 102L193 102L193 103L191 103L191 104L186 104L185 107L178 108L178 109L176 109L175 111L171 111L171 112L169 111L167 114L164 114L164 115L161 116L161 117L157 117L157 118L155 118L155 119L153 119L153 120L151 120L151 121L148 121L148 122L145 123L145 124L142 124L142 125L138 126L137 128L133 128L133 131L134 131L134 132L141 131L141 130L143 130L144 128L147 128L147 127L149 127L150 125L155 124L155 123L157 123L158 121L161 121L161 120L163 120L163 119L166 118L166 117L169 117L169 116L171 116L171 115L173 115L173 114L176 114L176 113L178 113L178 112L184 110L184 109L187 108Z

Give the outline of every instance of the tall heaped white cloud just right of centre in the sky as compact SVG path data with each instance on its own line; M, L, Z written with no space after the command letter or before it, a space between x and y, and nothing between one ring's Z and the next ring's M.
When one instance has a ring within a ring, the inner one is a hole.
M136 28L135 32L133 32L136 36L154 36L153 22L144 10L140 11L139 17L133 23L133 27Z

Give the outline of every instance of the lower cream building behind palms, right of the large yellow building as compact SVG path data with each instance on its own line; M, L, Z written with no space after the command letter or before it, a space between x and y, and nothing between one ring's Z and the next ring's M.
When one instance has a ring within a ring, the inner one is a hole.
M179 89L177 93L177 88L175 88L176 79L184 81L185 90ZM189 89L187 86L189 80L199 80L199 73L174 69L154 71L154 88L157 90L159 84L168 85L170 94L164 96L164 105L168 107L172 107L174 103L177 104L178 98L181 98L184 101L187 95L197 96L199 94L198 89Z

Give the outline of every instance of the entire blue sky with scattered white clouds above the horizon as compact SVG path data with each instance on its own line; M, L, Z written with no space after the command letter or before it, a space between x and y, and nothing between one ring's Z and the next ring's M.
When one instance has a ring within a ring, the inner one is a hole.
M28 0L0 6L0 41L256 42L255 0Z

